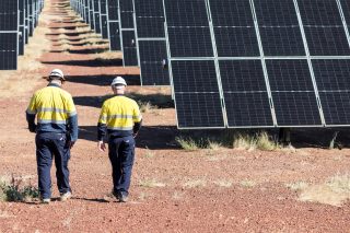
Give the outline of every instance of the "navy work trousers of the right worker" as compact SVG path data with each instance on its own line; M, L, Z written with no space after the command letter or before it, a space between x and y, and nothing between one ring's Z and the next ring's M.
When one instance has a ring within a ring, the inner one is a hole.
M133 137L110 137L108 140L108 154L112 163L113 191L127 197L135 159Z

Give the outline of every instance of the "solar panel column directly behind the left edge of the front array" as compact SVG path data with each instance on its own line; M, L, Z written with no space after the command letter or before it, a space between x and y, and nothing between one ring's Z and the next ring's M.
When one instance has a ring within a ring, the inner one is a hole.
M170 85L163 0L135 0L142 85Z

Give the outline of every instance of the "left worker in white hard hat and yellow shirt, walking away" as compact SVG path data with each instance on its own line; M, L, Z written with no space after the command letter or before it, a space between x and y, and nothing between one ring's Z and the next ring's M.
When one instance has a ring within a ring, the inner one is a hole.
M60 200L65 201L71 197L68 161L70 149L78 139L75 106L72 96L61 89L66 81L63 72L54 69L47 80L48 85L34 93L26 109L30 131L36 132L38 187L44 203L49 203L51 198L52 158L55 158Z

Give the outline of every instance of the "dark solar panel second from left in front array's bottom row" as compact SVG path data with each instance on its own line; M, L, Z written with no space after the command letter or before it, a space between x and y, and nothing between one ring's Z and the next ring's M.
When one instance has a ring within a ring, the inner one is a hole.
M229 127L273 126L260 60L220 60Z

